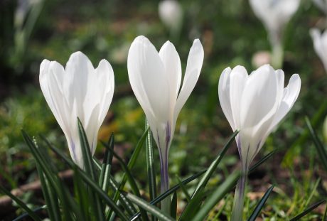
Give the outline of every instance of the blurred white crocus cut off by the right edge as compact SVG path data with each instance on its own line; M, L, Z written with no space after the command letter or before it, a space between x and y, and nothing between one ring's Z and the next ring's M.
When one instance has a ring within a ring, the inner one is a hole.
M317 28L311 28L310 34L314 50L316 50L327 72L327 30L321 33Z

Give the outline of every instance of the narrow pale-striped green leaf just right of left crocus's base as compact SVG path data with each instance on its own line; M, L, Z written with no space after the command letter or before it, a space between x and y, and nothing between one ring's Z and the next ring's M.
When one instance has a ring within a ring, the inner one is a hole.
M108 146L114 149L114 134L110 136L108 141ZM100 179L99 179L99 184L102 187L102 190L104 190L104 192L106 193L108 192L108 188L109 188L110 171L112 168L113 156L114 154L111 151L109 151L109 149L106 149L104 153L104 159L103 159Z

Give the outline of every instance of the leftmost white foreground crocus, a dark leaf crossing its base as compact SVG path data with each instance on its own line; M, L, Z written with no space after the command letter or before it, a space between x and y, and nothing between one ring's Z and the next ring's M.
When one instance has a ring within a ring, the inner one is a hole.
M95 69L81 52L70 55L65 69L56 61L43 60L40 85L46 102L65 134L70 156L83 168L77 117L84 126L94 154L97 133L114 94L112 66L107 60L101 60Z

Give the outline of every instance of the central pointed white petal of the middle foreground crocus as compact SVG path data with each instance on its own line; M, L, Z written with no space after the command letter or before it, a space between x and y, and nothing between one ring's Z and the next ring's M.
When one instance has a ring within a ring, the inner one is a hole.
M172 106L175 106L179 88L181 87L181 59L175 49L175 46L167 41L162 45L159 56L164 64L165 74L168 75L169 90L171 92Z

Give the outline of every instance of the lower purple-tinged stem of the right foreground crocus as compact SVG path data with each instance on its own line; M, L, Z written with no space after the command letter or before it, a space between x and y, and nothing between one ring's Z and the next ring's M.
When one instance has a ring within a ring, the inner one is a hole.
M247 168L242 168L242 174L240 180L236 185L234 202L232 203L232 216L231 221L242 221L243 220L243 206L245 196L245 185L247 184Z

